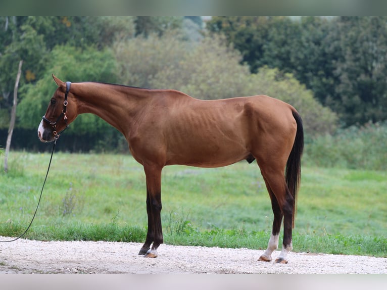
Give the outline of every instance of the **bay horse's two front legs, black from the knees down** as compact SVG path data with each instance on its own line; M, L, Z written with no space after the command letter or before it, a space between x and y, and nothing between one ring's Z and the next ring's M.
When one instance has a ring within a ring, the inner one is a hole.
M147 258L156 258L158 256L157 248L163 243L163 229L161 225L161 169L157 166L144 166L147 179L148 232L146 241L141 247L139 254L145 255Z

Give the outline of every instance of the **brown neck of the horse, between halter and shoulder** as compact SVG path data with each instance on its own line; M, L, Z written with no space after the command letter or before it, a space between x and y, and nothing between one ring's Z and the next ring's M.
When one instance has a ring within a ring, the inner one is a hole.
M76 95L78 115L97 115L124 135L150 96L147 89L105 83L74 83L71 88Z

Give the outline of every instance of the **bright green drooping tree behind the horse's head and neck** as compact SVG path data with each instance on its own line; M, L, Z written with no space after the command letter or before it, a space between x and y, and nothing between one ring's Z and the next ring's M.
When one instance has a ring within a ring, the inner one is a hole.
M19 126L22 128L36 128L41 116L48 106L50 96L57 85L52 79L52 73L61 79L71 79L73 82L83 81L84 78L94 81L115 82L112 72L116 63L109 50L98 51L93 47L79 49L74 46L56 46L50 53L50 61L46 65L44 77L36 84L23 87L23 99L18 106ZM35 120L35 122L31 122ZM94 115L84 115L74 123L76 134L89 132L103 132L110 126Z

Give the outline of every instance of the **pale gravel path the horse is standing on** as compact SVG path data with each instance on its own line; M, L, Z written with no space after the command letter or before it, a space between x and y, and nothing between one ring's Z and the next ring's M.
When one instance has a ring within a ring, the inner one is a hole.
M138 243L19 239L0 244L0 273L387 273L387 258L289 253L288 264L275 264L257 261L259 250L161 245L159 257L148 259L137 255L140 248Z

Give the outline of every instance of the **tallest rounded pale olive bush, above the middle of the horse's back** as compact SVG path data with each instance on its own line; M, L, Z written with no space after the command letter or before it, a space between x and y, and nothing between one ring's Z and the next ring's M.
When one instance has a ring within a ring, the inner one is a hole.
M152 78L152 87L181 90L197 99L213 100L244 95L249 67L223 37L206 37L180 54L174 66L165 66Z

